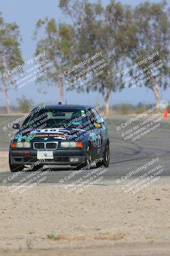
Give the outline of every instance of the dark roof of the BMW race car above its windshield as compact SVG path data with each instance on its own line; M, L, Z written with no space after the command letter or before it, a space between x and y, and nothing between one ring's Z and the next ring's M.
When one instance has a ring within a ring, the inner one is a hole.
M38 109L40 106L37 106L34 109ZM45 105L46 109L84 109L87 110L91 108L88 105L73 105L73 104L57 104L57 105Z

